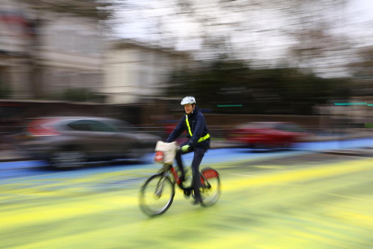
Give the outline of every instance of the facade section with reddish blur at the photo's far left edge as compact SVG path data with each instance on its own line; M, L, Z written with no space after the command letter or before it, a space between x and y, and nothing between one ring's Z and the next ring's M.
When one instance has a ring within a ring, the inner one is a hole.
M33 96L30 44L34 27L28 5L0 0L0 98Z

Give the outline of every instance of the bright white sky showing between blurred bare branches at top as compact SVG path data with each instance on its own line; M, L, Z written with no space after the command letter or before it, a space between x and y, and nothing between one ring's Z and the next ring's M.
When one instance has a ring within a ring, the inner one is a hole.
M209 10L199 16L219 16L222 23L241 21L244 24L241 31L232 31L224 25L214 29L201 28L199 22L191 18L174 15L177 8L172 0L166 3L164 0L128 2L129 5L118 11L115 29L123 38L154 41L161 46L172 46L176 50L199 50L203 43L201 35L205 34L203 31L207 32L207 35L229 33L231 44L239 51L239 57L272 62L283 58L288 53L289 46L295 42L289 36L278 32L284 21L290 20L291 17L273 10L257 9L250 12L250 16L244 16L242 12L225 12L219 8L220 5L214 4L216 0L197 1L200 8L196 9L196 12ZM135 7L129 9L128 6ZM322 11L321 6L320 13ZM327 16L333 18L331 21L334 32L355 39L356 46L373 43L373 0L349 0L345 7L336 7L332 12Z

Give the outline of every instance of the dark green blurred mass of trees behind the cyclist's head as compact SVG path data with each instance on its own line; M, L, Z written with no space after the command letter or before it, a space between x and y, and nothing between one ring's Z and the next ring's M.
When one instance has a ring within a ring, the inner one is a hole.
M194 94L216 112L312 114L313 105L347 98L349 84L298 68L252 69L244 61L220 58L173 72L167 96Z

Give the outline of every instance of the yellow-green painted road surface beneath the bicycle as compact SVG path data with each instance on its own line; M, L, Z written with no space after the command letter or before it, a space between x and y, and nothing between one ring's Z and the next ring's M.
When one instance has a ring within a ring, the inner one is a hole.
M149 169L18 178L0 184L0 248L373 248L373 160L311 158L204 165L221 175L219 202L177 189L157 218L138 208Z

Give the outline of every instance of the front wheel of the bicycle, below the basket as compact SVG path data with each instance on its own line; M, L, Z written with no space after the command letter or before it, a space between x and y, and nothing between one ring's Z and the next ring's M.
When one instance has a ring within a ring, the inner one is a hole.
M140 208L146 215L161 215L171 206L174 196L174 184L170 178L153 175L141 188Z

